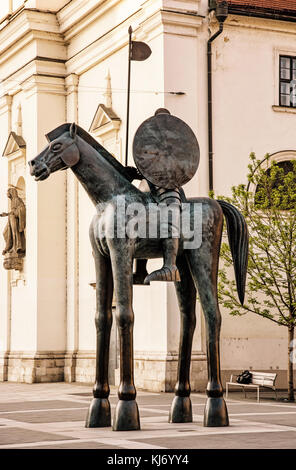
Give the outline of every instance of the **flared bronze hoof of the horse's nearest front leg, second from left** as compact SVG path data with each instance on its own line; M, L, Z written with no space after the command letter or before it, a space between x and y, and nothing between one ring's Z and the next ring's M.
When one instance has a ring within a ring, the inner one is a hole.
M136 400L119 400L117 403L113 431L137 431L140 429L140 416Z

